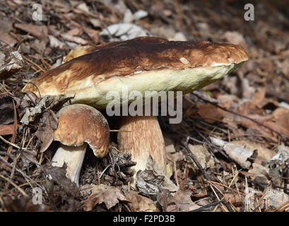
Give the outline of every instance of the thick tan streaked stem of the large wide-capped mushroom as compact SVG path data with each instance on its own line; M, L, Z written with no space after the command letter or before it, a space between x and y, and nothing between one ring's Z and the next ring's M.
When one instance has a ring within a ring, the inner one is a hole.
M163 133L155 116L127 116L121 117L118 133L119 150L131 153L132 160L136 162L133 168L145 170L148 155L158 163L160 169L165 169L166 154ZM134 174L134 179L136 174ZM135 185L135 180L131 186Z

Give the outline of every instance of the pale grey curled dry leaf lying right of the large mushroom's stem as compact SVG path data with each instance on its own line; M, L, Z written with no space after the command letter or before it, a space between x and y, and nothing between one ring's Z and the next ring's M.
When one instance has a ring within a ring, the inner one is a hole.
M227 153L232 160L237 162L244 169L249 169L251 166L251 162L248 161L248 158L257 155L256 150L248 150L243 145L236 145L213 137L210 138L214 145L223 148L225 153Z

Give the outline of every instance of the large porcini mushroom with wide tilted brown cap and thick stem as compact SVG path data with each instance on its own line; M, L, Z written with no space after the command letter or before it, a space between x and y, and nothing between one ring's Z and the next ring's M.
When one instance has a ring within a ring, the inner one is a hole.
M182 91L189 93L223 78L248 57L235 44L174 42L158 37L137 37L123 42L100 45L94 52L71 59L35 78L42 95L73 97L71 102L105 109L114 91L122 96L146 91ZM28 84L23 92L33 91ZM119 147L132 153L132 160L146 160L152 155L160 168L165 166L163 135L155 116L123 117ZM142 157L140 157L142 155ZM140 167L138 167L138 165ZM146 163L137 162L136 171Z

